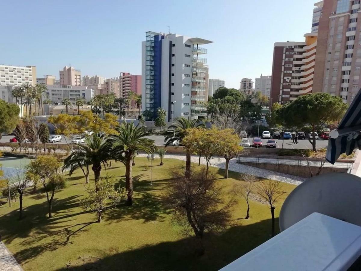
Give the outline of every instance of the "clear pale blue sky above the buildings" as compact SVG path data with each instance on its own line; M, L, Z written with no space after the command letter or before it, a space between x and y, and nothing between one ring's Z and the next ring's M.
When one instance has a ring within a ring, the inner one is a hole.
M35 65L37 77L71 63L82 76L141 74L146 31L212 40L210 78L271 74L274 42L303 41L316 0L12 1L1 3L0 64ZM187 4L186 4L187 3Z

